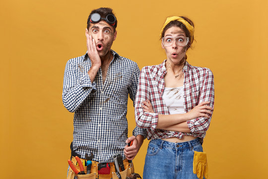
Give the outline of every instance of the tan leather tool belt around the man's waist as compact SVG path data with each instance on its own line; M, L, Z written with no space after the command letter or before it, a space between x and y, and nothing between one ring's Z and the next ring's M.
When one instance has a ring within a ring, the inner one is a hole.
M72 162L72 164L74 164L74 167L80 171L80 168L78 165L76 165L77 163L77 160L75 159L75 156L77 157L81 157L79 154L75 153L73 151L73 148L72 148L72 143L71 143L71 158L70 158L70 161ZM86 163L86 159L81 159L80 158L80 161L81 163ZM68 176L67 176L67 179L74 179L74 177L76 176L77 179L118 179L118 176L116 174L116 170L115 170L115 163L114 162L111 162L111 163L99 163L99 162L96 162L96 161L91 161L92 162L92 165L91 165L91 170L90 170L90 174L87 174L87 167L83 167L84 168L84 172L85 172L85 175L76 175L71 168L69 168L69 171L68 171ZM125 159L123 161L124 163L124 167L125 167L125 170L120 172L120 175L122 177L122 179L126 179L128 176L130 176L132 173L134 173L134 166L133 166L133 163L129 163L129 161L127 159ZM109 174L101 174L100 170L100 166L109 166Z

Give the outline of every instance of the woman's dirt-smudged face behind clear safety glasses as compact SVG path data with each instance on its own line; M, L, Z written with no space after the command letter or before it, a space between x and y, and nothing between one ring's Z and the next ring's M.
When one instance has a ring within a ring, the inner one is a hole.
M180 27L173 26L166 30L164 37L180 39L178 37L186 38L186 34ZM167 59L171 60L174 64L178 64L182 60L184 61L187 45L184 47L178 46L174 40L171 46L166 47L162 41L162 48L166 51Z

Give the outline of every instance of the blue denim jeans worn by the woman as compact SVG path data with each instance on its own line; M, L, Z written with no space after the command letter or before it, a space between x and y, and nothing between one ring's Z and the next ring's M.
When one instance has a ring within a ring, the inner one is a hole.
M198 179L193 173L194 151L203 152L199 138L182 143L151 140L143 179Z

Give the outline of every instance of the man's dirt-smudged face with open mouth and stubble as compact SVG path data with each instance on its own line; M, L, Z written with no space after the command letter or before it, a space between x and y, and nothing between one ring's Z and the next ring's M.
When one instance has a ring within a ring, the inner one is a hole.
M100 57L105 57L111 50L117 31L106 21L90 23L88 34L95 39L96 48Z

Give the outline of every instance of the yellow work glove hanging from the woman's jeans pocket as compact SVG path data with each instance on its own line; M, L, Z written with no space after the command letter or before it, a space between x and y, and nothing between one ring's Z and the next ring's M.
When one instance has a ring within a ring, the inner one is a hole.
M193 172L199 179L207 179L208 166L205 152L196 152L194 155Z

